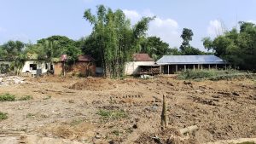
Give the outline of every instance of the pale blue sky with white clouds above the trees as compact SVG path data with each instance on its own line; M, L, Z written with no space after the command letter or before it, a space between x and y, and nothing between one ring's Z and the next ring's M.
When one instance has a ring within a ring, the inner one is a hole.
M92 26L83 19L84 10L95 13L100 4L122 9L132 25L143 16L156 16L148 37L160 37L170 47L181 45L184 27L194 32L190 45L204 49L203 37L216 37L238 21L256 23L256 0L0 0L0 44L36 43L52 35L86 37Z

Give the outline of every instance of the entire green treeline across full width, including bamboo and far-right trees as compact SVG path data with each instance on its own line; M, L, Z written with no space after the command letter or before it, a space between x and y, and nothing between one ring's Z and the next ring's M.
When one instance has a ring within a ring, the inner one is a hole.
M86 9L84 19L93 27L87 37L73 40L65 36L52 36L40 39L37 43L9 41L0 45L0 59L12 60L11 68L19 74L25 60L55 62L61 55L68 55L67 63L73 64L78 55L92 55L96 65L103 67L104 75L108 78L123 77L125 62L136 53L147 53L154 60L163 55L214 54L243 69L255 70L256 28L252 23L241 22L240 32L233 29L213 40L204 38L206 49L213 51L210 53L189 44L194 34L188 28L183 29L183 43L179 48L171 48L160 37L147 37L148 24L154 17L143 17L131 26L122 10L113 11L100 5L96 14Z

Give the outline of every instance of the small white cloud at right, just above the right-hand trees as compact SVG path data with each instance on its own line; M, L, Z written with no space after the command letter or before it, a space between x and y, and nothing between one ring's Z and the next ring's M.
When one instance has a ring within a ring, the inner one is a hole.
M224 27L219 20L210 20L209 26L207 27L207 34L212 37L223 34Z

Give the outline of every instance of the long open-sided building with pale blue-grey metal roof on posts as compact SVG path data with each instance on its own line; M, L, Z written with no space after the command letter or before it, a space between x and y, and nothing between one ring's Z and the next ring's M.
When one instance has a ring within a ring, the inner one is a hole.
M161 73L173 74L187 69L225 69L228 63L215 55L164 55L156 64Z

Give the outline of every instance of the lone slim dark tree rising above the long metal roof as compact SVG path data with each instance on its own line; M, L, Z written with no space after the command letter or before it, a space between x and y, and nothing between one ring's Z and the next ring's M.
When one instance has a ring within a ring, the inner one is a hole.
M192 40L193 35L194 34L193 34L192 30L190 30L188 28L183 28L183 34L180 36L183 38L183 43L180 46L181 50L184 50L189 47L189 41Z

